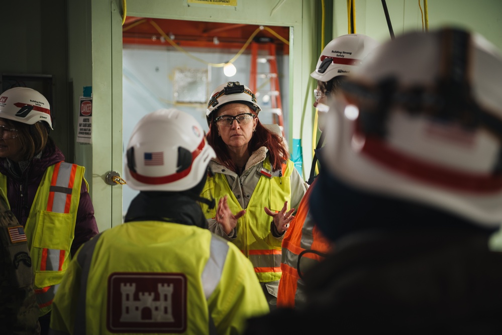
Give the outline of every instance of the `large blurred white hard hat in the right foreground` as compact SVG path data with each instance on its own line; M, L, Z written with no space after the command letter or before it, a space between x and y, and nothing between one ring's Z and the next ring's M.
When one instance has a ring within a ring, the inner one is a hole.
M327 171L485 228L502 221L502 56L458 29L382 44L326 119ZM351 111L352 113L349 113Z

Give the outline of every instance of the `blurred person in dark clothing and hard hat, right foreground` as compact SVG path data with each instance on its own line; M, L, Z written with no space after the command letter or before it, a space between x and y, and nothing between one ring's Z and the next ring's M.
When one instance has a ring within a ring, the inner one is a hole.
M336 250L305 274L304 308L246 333L499 334L501 91L502 56L478 34L381 45L327 115L310 205Z

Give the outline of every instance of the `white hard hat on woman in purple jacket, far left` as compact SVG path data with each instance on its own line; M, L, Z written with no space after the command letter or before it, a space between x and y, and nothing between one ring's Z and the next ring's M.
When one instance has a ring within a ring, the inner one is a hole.
M43 121L52 129L49 101L33 88L13 87L3 92L0 95L0 118L28 125Z

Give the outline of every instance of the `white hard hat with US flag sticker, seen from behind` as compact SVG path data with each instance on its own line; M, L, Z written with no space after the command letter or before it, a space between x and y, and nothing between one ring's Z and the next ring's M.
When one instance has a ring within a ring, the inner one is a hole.
M158 109L134 128L125 180L140 191L184 191L197 185L216 154L200 124L177 109Z

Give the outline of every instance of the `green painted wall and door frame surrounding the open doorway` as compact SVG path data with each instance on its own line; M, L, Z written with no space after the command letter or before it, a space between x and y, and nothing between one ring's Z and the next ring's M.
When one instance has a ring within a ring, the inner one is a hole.
M27 5L29 3L29 6ZM291 27L290 138L301 141L307 179L312 160L315 110L310 73L324 45L348 33L347 1L237 0L234 8L188 4L187 0L126 0L127 15ZM395 35L422 30L424 1L387 0ZM502 49L502 2L429 0L429 28L455 24L475 30ZM109 171L122 173L122 0L29 0L6 2L0 71L52 74L58 123L52 135L68 161L86 167L99 229L122 222L122 187L105 183ZM356 33L378 41L390 38L382 3L356 0ZM20 16L22 13L22 16ZM20 24L20 17L23 18ZM75 141L78 99L83 86L93 91L93 143Z

